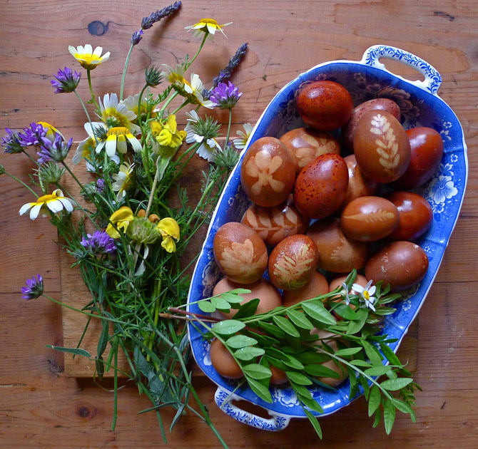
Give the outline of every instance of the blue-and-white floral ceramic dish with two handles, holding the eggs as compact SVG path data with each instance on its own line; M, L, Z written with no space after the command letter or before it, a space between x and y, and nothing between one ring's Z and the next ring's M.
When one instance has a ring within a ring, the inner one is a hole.
M387 71L380 58L392 58L422 73L424 81L407 81ZM437 130L444 142L442 164L437 173L417 192L424 196L432 206L434 219L432 227L418 242L427 252L429 269L422 282L410 291L399 304L397 311L385 319L384 333L397 342L390 348L397 351L408 327L417 316L425 297L442 262L444 250L452 234L459 215L467 184L468 162L467 146L464 143L462 127L451 108L437 91L442 82L439 73L428 63L411 53L390 46L372 46L365 51L361 61L331 61L322 63L302 73L290 81L273 98L260 116L250 135L245 150L264 136L279 138L283 133L303 126L295 107L295 97L302 86L317 80L329 80L345 86L352 95L354 105L372 98L391 98L400 106L405 129L427 126ZM213 287L220 279L220 272L214 262L213 239L218 228L227 222L238 222L250 201L240 185L240 161L233 170L218 203L203 244L203 249L193 273L188 302L192 303L211 296ZM188 310L203 313L197 304ZM203 340L194 326L188 325L190 344L195 361L213 382L218 385L215 401L230 416L255 428L281 430L290 418L305 418L295 393L291 388L270 388L273 403L266 403L248 388L247 383L238 388L233 395L235 383L220 376L210 363L208 343ZM334 413L347 406L353 399L349 397L350 383L345 381L336 391L325 391L311 387L315 400L325 411L324 415ZM261 418L235 406L231 401L245 400L265 408L270 419Z

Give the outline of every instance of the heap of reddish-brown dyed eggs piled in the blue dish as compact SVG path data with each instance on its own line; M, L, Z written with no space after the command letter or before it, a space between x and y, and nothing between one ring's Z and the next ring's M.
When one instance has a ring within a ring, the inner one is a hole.
M263 313L328 293L352 269L364 287L417 284L428 258L414 241L433 215L407 190L437 170L439 133L405 130L388 98L353 108L350 93L332 81L307 84L297 108L307 127L260 138L244 155L241 184L253 205L215 234L215 262L225 277L213 294L250 289L244 301L259 298ZM215 365L213 358L211 351Z

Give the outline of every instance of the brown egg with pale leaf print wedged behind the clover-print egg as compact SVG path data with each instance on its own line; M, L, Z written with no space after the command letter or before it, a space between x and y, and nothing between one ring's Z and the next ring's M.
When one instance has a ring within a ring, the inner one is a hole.
M340 155L340 144L336 138L313 128L297 128L282 135L279 139L289 150L298 175L305 165L320 155L334 153Z

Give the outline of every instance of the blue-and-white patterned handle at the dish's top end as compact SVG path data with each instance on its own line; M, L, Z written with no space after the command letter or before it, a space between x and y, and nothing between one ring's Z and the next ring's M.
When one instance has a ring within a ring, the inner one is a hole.
M415 56L408 51L401 50L400 48L391 47L387 45L374 45L370 48L367 48L365 53L363 53L361 63L366 66L372 66L375 68L381 68L382 70L387 70L387 68L379 61L380 58L395 59L401 63L406 64L407 66L415 68L415 70L422 73L424 76L424 81L408 81L414 86L423 89L433 95L437 95L439 86L442 85L442 76L438 73L437 69L431 66L426 61L423 61L422 58Z

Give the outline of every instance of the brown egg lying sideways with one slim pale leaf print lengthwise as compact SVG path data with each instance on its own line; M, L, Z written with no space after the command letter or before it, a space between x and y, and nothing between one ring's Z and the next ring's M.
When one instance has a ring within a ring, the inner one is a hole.
M382 197L360 197L345 206L340 217L342 231L359 242L375 242L398 226L398 210Z

